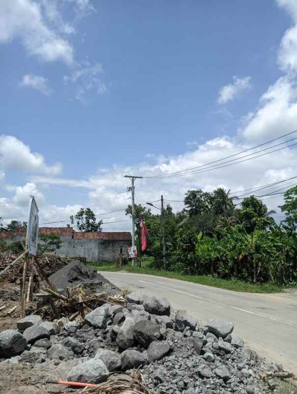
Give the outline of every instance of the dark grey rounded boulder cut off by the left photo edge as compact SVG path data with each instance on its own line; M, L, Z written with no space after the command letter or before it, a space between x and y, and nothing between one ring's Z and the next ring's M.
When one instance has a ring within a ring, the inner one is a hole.
M5 330L0 333L0 357L12 357L22 353L27 346L27 339L17 330Z

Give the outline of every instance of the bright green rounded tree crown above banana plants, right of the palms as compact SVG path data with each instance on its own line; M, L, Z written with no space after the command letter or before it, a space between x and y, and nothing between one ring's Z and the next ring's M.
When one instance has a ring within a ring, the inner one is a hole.
M270 217L275 211L268 212L267 206L257 197L246 197L242 201L242 208L239 212L240 219L245 231L251 234L256 227L258 229L272 228L275 221Z

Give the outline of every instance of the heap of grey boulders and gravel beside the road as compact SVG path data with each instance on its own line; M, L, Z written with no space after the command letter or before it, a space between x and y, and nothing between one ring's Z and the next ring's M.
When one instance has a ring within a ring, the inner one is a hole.
M78 359L68 380L100 383L104 374L141 368L152 393L277 393L263 371L281 371L232 337L233 324L214 319L199 326L166 298L138 293L127 306L104 304L83 322L43 321L31 315L17 330L0 333L1 363L58 365Z

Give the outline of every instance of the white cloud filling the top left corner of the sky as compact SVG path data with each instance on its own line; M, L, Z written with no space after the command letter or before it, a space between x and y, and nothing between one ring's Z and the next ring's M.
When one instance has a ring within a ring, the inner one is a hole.
M45 22L38 2L33 0L2 1L0 6L0 42L18 39L27 52L44 61L74 62L71 44Z

